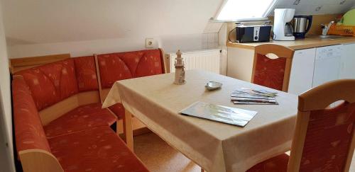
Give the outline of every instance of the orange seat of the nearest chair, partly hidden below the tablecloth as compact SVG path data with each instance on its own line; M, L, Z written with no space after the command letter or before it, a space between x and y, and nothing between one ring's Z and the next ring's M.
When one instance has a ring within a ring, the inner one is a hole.
M247 172L286 172L288 170L288 157L288 154L280 154L256 164Z

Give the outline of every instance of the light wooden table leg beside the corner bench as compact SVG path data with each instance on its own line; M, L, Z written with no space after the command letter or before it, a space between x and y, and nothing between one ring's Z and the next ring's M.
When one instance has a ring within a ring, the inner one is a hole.
M124 110L124 140L127 147L133 151L132 114L128 110Z

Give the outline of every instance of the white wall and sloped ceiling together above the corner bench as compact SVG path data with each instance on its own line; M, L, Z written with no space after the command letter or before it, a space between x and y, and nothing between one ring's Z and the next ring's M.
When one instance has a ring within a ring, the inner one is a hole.
M222 0L1 0L9 57L145 48L200 50L202 33ZM218 29L219 30L219 29ZM217 32L216 32L217 33Z

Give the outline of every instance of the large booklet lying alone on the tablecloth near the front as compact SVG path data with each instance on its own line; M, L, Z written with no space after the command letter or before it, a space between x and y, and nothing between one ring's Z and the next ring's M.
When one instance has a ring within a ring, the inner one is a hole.
M244 127L258 112L197 101L179 113Z

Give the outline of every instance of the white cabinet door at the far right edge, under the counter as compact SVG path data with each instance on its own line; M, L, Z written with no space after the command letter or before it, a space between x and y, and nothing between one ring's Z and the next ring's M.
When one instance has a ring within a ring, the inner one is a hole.
M339 79L355 79L355 43L343 45Z

